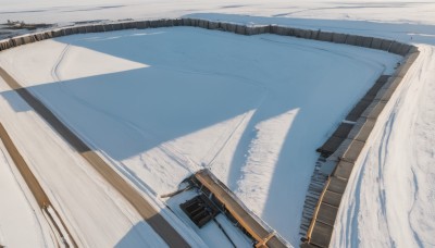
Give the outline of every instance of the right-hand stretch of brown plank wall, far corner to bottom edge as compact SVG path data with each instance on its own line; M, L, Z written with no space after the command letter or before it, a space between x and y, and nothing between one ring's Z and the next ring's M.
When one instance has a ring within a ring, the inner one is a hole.
M322 193L318 197L311 223L307 230L307 216L302 218L301 233L306 232L301 247L328 247L334 232L334 224L352 169L368 141L376 121L403 76L419 57L419 51L411 49L406 53L400 66L393 75L382 75L365 96L350 111L346 120L333 136L318 149L321 158L330 169L322 173L327 175ZM333 164L334 166L331 166ZM320 170L314 171L314 174ZM311 190L311 189L310 189ZM309 194L310 194L309 190ZM318 193L318 191L316 191ZM315 195L316 196L316 195ZM307 196L307 199L309 195ZM313 199L310 199L313 200ZM312 201L306 207L312 208ZM306 231L307 230L307 231Z

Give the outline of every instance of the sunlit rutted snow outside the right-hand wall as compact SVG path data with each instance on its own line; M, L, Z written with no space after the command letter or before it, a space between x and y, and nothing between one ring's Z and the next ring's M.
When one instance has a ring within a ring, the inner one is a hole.
M356 164L332 247L435 245L435 47L419 49L390 112L378 119L364 159Z

